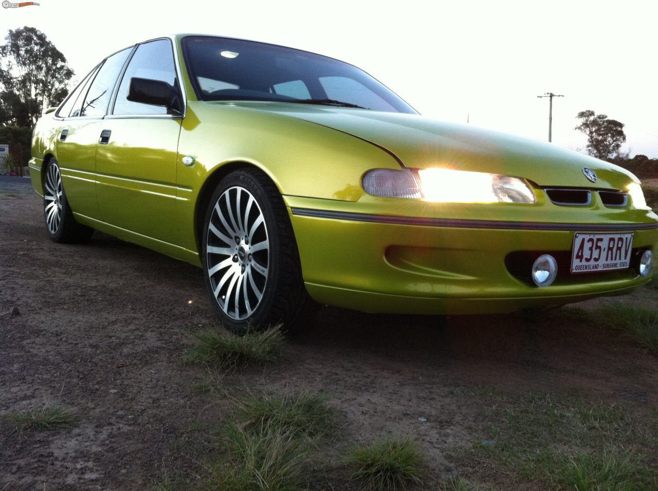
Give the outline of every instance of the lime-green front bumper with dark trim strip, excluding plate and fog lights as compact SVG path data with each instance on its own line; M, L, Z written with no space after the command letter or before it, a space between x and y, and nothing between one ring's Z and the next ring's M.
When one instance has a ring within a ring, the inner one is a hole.
M309 294L366 312L512 312L626 294L649 281L633 266L571 274L570 251L579 231L633 231L632 258L647 249L658 252L658 223L650 220L600 225L436 220L299 206L290 207L290 218ZM559 274L553 285L540 288L529 266L524 272L524 262L531 265L543 253L559 258Z

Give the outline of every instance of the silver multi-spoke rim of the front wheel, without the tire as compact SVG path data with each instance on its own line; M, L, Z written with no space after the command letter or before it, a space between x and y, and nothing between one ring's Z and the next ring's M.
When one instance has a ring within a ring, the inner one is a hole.
M234 320L250 317L267 286L270 242L261 207L247 189L230 187L216 201L206 235L206 264L224 314Z

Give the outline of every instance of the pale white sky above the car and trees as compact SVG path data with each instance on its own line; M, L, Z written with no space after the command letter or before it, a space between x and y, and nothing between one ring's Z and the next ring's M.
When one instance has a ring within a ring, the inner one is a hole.
M22 1L22 0L21 0ZM17 3L14 0L14 3ZM622 152L658 158L655 0L39 0L0 7L0 33L32 26L81 80L102 58L176 32L280 44L355 64L424 116L585 152L576 114L625 124Z

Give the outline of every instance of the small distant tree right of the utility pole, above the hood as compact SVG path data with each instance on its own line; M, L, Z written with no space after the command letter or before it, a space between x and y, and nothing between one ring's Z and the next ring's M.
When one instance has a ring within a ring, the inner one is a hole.
M576 119L580 124L574 129L587 135L588 154L601 160L619 154L622 143L626 141L623 123L609 119L606 114L595 114L593 110L580 111Z

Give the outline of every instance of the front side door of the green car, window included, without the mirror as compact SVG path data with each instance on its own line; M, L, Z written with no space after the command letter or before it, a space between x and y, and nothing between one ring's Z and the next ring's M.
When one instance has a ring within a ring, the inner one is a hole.
M175 243L176 157L182 114L165 106L129 101L134 77L179 87L170 39L138 45L122 76L113 110L101 123L96 148L98 203L105 222Z

